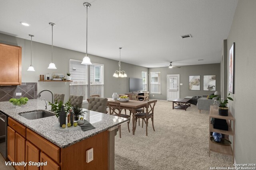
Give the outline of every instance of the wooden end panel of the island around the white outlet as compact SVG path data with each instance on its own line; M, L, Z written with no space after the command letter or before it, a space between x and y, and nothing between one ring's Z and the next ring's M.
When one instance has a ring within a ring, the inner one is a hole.
M86 163L86 150L91 148L93 160ZM61 170L108 170L108 131L62 148L61 155Z

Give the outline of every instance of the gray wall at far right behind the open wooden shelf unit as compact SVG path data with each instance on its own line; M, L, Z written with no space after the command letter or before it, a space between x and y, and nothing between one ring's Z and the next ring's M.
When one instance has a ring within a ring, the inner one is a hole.
M227 53L235 42L234 94L230 110L236 119L236 163L256 162L256 0L239 0L227 39ZM227 55L228 56L228 55ZM227 68L229 59L227 59ZM228 72L228 69L226 70ZM227 78L228 82L228 78ZM226 86L228 87L228 86ZM227 90L228 93L228 90Z

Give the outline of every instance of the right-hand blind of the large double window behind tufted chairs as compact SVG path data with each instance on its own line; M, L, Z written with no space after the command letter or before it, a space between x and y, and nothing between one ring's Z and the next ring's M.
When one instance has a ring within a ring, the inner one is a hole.
M94 94L104 97L104 65L96 63L90 65L90 96Z

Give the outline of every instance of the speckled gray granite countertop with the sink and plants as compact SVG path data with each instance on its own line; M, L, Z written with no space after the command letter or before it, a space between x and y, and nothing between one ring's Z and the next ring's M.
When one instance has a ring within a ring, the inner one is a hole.
M47 111L49 111L49 109L51 109L51 106L48 105L47 107ZM10 102L0 102L0 111L4 112L6 115L18 121L22 125L28 127L32 131L38 133L42 137L48 139L60 148L68 147L79 141L87 139L93 135L96 135L128 121L128 119L125 118L121 119L120 117L115 117L113 115L89 110L88 112L84 113L83 117L84 119L89 121L95 127L95 129L82 131L81 128L78 126L74 128L69 127L69 130L56 128L56 124L58 123L58 118L56 116L29 120L18 115L18 113L21 112L36 110L46 110L44 100L32 99L29 100L26 105L18 108L12 106ZM87 109L85 110L87 111Z

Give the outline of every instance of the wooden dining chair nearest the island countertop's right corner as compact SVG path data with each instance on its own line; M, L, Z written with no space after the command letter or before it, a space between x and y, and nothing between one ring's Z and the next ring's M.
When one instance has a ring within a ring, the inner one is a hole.
M130 119L129 115L121 114L120 102L108 102L108 107L109 107L110 115L115 115L119 117L124 117L126 119ZM130 133L129 121L127 122L127 125L128 125L128 131ZM119 137L121 138L121 125L118 125L118 130L119 130Z

